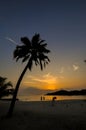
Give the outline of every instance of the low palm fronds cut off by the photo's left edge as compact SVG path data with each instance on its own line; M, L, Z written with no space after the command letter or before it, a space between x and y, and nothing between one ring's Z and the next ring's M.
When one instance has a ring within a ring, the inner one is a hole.
M13 91L14 91L14 89L12 88L13 85L10 81L6 82L6 80L7 78L0 76L0 98L4 96L13 95Z

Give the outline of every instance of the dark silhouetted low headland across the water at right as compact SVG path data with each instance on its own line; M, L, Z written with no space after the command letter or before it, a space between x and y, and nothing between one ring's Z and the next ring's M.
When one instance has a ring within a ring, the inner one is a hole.
M82 90L59 90L55 92L47 93L46 95L63 95L63 96L77 96L77 95L86 95L86 89Z

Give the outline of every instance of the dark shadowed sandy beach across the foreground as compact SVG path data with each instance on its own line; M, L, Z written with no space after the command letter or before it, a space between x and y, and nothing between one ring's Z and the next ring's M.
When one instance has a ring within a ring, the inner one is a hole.
M9 105L0 101L0 130L86 130L86 100L16 101L5 118Z

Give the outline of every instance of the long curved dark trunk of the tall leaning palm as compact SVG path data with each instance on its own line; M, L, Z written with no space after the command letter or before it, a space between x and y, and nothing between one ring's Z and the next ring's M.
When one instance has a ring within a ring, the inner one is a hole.
M21 83L21 81L22 81L22 79L24 77L25 72L27 71L27 68L28 68L28 64L26 65L26 67L24 68L24 70L22 71L22 73L21 73L21 75L20 75L20 77L18 79L18 82L17 82L16 87L15 87L15 91L14 91L14 94L13 94L13 98L12 98L12 101L11 101L11 104L10 104L10 108L9 108L8 113L7 113L7 117L11 117L12 114L13 114L13 110L14 110L14 106L15 106L19 86L20 86L20 83Z

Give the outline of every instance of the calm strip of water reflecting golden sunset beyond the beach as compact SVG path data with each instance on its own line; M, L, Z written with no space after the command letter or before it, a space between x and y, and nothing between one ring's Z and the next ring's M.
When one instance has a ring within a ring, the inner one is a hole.
M18 98L21 101L41 101L41 97L42 97L42 100L50 101L52 100L54 96L30 95L30 96L19 96ZM55 96L55 97L56 97L56 100L76 100L76 99L86 100L86 96Z

